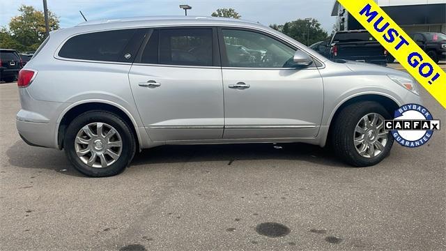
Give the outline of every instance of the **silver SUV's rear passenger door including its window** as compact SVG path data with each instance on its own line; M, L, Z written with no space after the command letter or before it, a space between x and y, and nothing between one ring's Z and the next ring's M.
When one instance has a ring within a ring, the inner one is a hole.
M221 139L223 89L216 30L151 29L130 69L134 100L153 142Z

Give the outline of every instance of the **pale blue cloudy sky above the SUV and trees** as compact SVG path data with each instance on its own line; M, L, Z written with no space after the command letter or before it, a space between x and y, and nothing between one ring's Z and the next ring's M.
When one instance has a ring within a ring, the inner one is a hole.
M188 15L210 15L217 8L235 8L244 20L261 24L284 24L298 18L314 17L329 33L335 22L330 17L334 0L47 0L49 10L60 17L61 27L70 27L83 22L79 10L88 20L117 17L140 17L153 15L183 15L178 6L189 4ZM17 8L26 4L43 10L42 0L0 0L0 26L7 26L10 18L18 15Z

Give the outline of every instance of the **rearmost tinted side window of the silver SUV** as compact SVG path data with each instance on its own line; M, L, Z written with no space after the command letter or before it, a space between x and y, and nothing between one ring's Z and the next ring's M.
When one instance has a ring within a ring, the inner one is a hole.
M125 29L78 35L63 45L59 56L68 59L122 61L123 49L135 31L135 29Z

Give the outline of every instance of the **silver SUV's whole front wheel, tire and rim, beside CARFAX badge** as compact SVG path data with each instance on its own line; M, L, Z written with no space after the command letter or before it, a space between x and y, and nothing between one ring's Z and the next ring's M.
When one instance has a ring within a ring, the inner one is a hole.
M378 102L348 105L333 121L331 142L334 152L348 164L368 167L381 162L392 149L394 139L384 128L389 112Z

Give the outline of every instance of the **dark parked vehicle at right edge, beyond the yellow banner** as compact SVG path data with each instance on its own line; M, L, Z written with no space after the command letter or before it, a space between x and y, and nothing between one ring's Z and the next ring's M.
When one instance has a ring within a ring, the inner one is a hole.
M446 60L446 34L438 32L412 33L409 35L431 59L438 63Z

